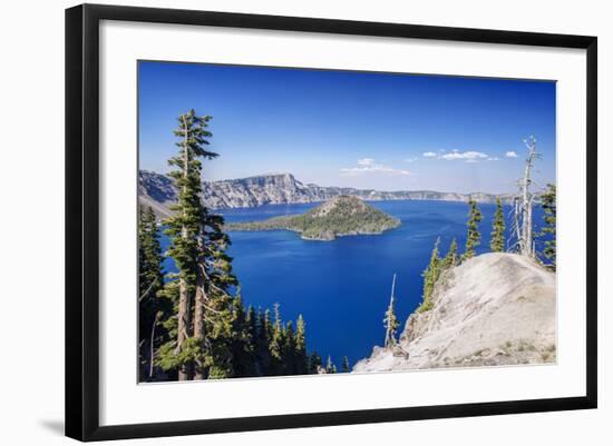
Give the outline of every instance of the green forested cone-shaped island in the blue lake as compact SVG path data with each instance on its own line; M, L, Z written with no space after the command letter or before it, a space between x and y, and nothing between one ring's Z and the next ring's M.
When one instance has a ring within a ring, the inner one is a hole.
M228 231L285 229L305 240L334 240L337 237L382 234L400 226L400 220L357 197L339 196L302 215L273 217L262 221L226 224Z

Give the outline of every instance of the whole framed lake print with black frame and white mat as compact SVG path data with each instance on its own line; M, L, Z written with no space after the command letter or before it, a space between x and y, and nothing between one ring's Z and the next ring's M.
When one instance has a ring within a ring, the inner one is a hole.
M66 11L66 434L596 407L596 38Z

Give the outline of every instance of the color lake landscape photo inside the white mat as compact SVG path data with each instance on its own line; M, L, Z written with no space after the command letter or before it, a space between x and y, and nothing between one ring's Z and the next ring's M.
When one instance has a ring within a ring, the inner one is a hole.
M138 62L138 380L556 363L556 83Z

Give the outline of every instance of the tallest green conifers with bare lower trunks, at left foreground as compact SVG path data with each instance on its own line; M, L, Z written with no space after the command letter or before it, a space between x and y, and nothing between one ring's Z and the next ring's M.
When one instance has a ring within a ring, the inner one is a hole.
M178 270L177 338L164 349L163 363L178 367L178 379L232 376L233 308L231 289L237 285L232 259L225 254L230 239L223 217L212 215L201 201L202 159L217 153L206 149L211 117L194 110L178 117L175 136L178 155L168 162L178 190L174 215L165 221L171 237L169 256ZM174 356L174 357L173 357Z

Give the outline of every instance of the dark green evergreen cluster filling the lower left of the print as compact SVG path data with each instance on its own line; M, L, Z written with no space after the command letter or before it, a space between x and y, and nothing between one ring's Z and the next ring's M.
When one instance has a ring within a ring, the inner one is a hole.
M178 190L174 215L158 225L152 208L140 209L139 350L140 380L189 380L228 377L334 373L319 354L306 351L306 324L274 320L270 309L245 308L222 216L203 206L202 161L217 157L207 150L208 121L194 110L178 117L178 153L169 176ZM164 274L159 227L169 237L166 251L177 268ZM346 364L343 363L343 369ZM349 364L347 363L347 368Z

